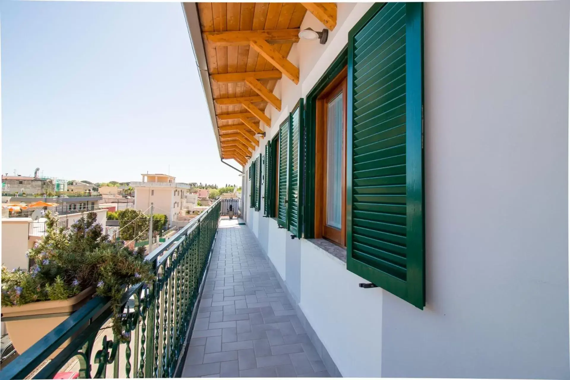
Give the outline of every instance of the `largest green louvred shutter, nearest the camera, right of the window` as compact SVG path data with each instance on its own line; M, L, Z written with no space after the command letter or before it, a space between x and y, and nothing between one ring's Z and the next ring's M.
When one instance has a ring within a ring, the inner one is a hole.
M348 36L347 268L424 308L422 3Z

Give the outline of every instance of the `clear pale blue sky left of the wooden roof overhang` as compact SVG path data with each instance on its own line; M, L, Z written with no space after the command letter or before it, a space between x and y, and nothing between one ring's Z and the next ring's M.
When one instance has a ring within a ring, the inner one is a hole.
M0 0L0 32L2 173L140 181L170 165L180 182L241 185L180 3Z

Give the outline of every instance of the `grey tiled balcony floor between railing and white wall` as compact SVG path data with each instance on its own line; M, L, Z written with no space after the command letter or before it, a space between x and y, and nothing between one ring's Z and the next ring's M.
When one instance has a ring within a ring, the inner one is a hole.
M329 377L247 226L222 218L182 377Z

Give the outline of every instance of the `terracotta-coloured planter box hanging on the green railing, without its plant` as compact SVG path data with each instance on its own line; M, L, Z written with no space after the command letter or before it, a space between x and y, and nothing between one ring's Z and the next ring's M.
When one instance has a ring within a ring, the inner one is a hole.
M41 301L21 306L2 307L2 321L6 323L6 330L16 352L22 354L34 345L35 342L86 304L93 293L95 293L95 289L89 287L67 300ZM86 326L66 340L49 358L55 358Z

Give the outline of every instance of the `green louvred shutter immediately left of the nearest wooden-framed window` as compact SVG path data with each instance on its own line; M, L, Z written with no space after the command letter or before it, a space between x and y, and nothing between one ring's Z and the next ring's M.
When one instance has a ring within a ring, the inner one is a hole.
M302 147L301 133L303 125L303 99L293 109L289 117L290 133L290 153L289 153L289 197L288 197L288 230L295 236L300 238L300 189L301 189L301 173L299 170L299 162Z

